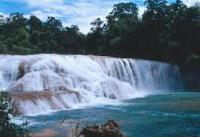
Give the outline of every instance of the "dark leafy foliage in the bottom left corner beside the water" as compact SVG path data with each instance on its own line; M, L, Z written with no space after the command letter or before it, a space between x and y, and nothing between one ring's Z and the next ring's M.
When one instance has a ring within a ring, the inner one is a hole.
M27 131L21 126L13 124L8 94L0 92L0 136L1 137L27 137Z

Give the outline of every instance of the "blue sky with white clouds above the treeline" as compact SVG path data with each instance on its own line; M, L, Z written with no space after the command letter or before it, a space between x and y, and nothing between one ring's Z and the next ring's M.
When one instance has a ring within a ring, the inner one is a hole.
M168 0L172 2L174 0ZM78 25L83 33L89 32L90 23L95 18L105 20L114 4L134 2L139 7L139 15L145 10L144 0L0 0L0 15L12 12L23 13L25 17L36 15L42 21L48 16L60 19L64 26ZM191 6L200 0L183 0Z

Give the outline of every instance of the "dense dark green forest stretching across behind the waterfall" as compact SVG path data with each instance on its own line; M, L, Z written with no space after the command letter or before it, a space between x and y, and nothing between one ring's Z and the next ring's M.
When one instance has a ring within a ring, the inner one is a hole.
M168 61L177 64L200 62L200 6L182 1L146 0L140 17L134 3L113 7L106 21L95 19L91 31L62 26L48 17L21 13L0 16L0 54L94 54Z

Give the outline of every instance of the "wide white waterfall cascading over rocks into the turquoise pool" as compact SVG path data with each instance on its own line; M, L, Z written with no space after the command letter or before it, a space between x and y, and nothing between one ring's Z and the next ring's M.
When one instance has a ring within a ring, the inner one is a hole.
M20 114L180 88L178 67L155 61L82 55L0 56L0 89L11 93Z

